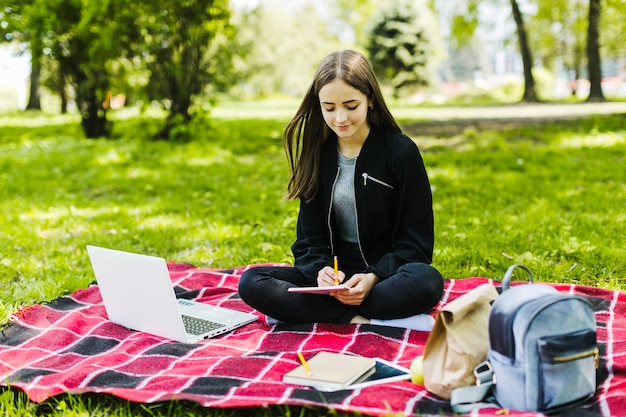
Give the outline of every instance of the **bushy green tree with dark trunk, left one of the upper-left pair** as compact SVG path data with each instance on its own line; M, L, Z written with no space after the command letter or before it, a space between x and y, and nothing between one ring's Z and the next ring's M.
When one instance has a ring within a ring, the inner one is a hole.
M17 2L16 0L13 0ZM59 89L74 86L83 132L88 138L107 136L106 100L111 62L119 58L134 27L124 0L34 0L23 9L27 21L37 19L30 42L36 57L45 49L57 62ZM33 60L33 65L37 62Z

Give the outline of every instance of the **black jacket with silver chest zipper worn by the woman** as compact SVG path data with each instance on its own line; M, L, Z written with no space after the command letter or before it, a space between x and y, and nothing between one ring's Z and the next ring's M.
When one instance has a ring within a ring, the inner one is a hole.
M314 284L332 265L337 239L331 211L338 175L337 139L322 147L318 191L300 201L297 238L291 249L298 268ZM385 279L409 262L431 263L434 245L432 194L422 156L407 136L372 128L354 176L357 229L366 272Z

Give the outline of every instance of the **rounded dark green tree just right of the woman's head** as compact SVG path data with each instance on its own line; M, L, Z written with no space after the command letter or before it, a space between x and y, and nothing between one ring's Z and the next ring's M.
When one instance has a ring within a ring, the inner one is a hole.
M378 77L398 96L432 81L439 31L424 1L402 0L384 7L373 23L367 50Z

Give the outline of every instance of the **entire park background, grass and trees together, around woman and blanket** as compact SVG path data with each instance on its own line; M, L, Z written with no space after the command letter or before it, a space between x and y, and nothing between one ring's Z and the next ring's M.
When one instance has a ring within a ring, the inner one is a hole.
M625 10L0 0L0 322L89 285L86 244L199 267L291 262L281 133L342 48L370 58L422 150L444 276L499 279L520 262L538 280L622 289ZM0 411L228 414L11 390Z

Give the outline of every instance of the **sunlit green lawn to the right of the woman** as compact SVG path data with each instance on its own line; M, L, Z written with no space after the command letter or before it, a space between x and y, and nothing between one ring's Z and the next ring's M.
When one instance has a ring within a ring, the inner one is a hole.
M436 262L445 270L452 261L454 276L466 263L472 275L496 277L523 262L540 280L621 288L624 125L623 116L591 118L474 132L455 153L432 145Z

